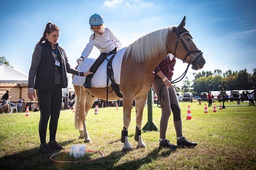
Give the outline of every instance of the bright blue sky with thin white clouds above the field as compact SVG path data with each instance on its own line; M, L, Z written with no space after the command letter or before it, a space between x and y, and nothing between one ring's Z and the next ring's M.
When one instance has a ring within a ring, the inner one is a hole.
M4 1L0 0L0 56L28 74L35 44L45 25L61 28L59 44L75 67L92 34L89 17L103 16L123 46L156 29L178 25L186 16L186 27L206 59L202 70L246 68L252 72L256 55L256 1L237 0L83 0ZM92 56L99 51L94 47ZM174 77L186 66L178 61ZM193 79L189 70L188 76Z

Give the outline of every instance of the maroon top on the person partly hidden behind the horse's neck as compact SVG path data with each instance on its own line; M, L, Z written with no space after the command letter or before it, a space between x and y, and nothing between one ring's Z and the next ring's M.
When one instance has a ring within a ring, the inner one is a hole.
M169 81L172 80L173 71L174 71L174 65L176 63L176 59L173 57L171 59L164 58L162 62L158 64L158 66L154 70L154 79L161 79L157 73L162 71L162 73L168 78Z

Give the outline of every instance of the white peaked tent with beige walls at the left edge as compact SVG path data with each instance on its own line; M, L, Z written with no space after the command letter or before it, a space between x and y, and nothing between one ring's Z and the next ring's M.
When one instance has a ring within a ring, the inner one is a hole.
M0 65L0 97L6 93L7 89L12 95L10 101L18 101L20 97L30 101L27 96L28 75L3 64ZM37 101L37 98L34 101Z

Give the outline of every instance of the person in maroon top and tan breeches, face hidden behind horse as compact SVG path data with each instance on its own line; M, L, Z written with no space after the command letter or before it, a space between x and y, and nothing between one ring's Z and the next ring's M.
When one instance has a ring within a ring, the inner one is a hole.
M174 71L174 65L176 63L176 59L172 54L168 54L162 62L158 64L156 69L154 70L154 84L153 88L157 95L159 95L160 89L162 85L164 87L164 96L165 103L163 99L160 101L160 106L164 106L162 109L162 116L160 119L160 140L159 147L164 148L177 148L177 147L194 147L197 145L195 142L189 142L182 135L182 121L181 121L181 109L179 107L178 98L176 95L175 89L172 87L171 81ZM159 96L157 96L159 97ZM174 127L176 130L177 136L177 145L173 145L169 140L166 139L166 130L168 125L168 120L171 115L171 111L173 112L173 120Z

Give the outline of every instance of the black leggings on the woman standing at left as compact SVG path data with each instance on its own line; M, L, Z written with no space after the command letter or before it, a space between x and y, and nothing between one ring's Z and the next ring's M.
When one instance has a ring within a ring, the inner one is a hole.
M40 106L39 136L40 142L46 143L46 131L50 118L50 141L55 140L60 110L62 107L62 85L55 85L52 90L37 90Z

